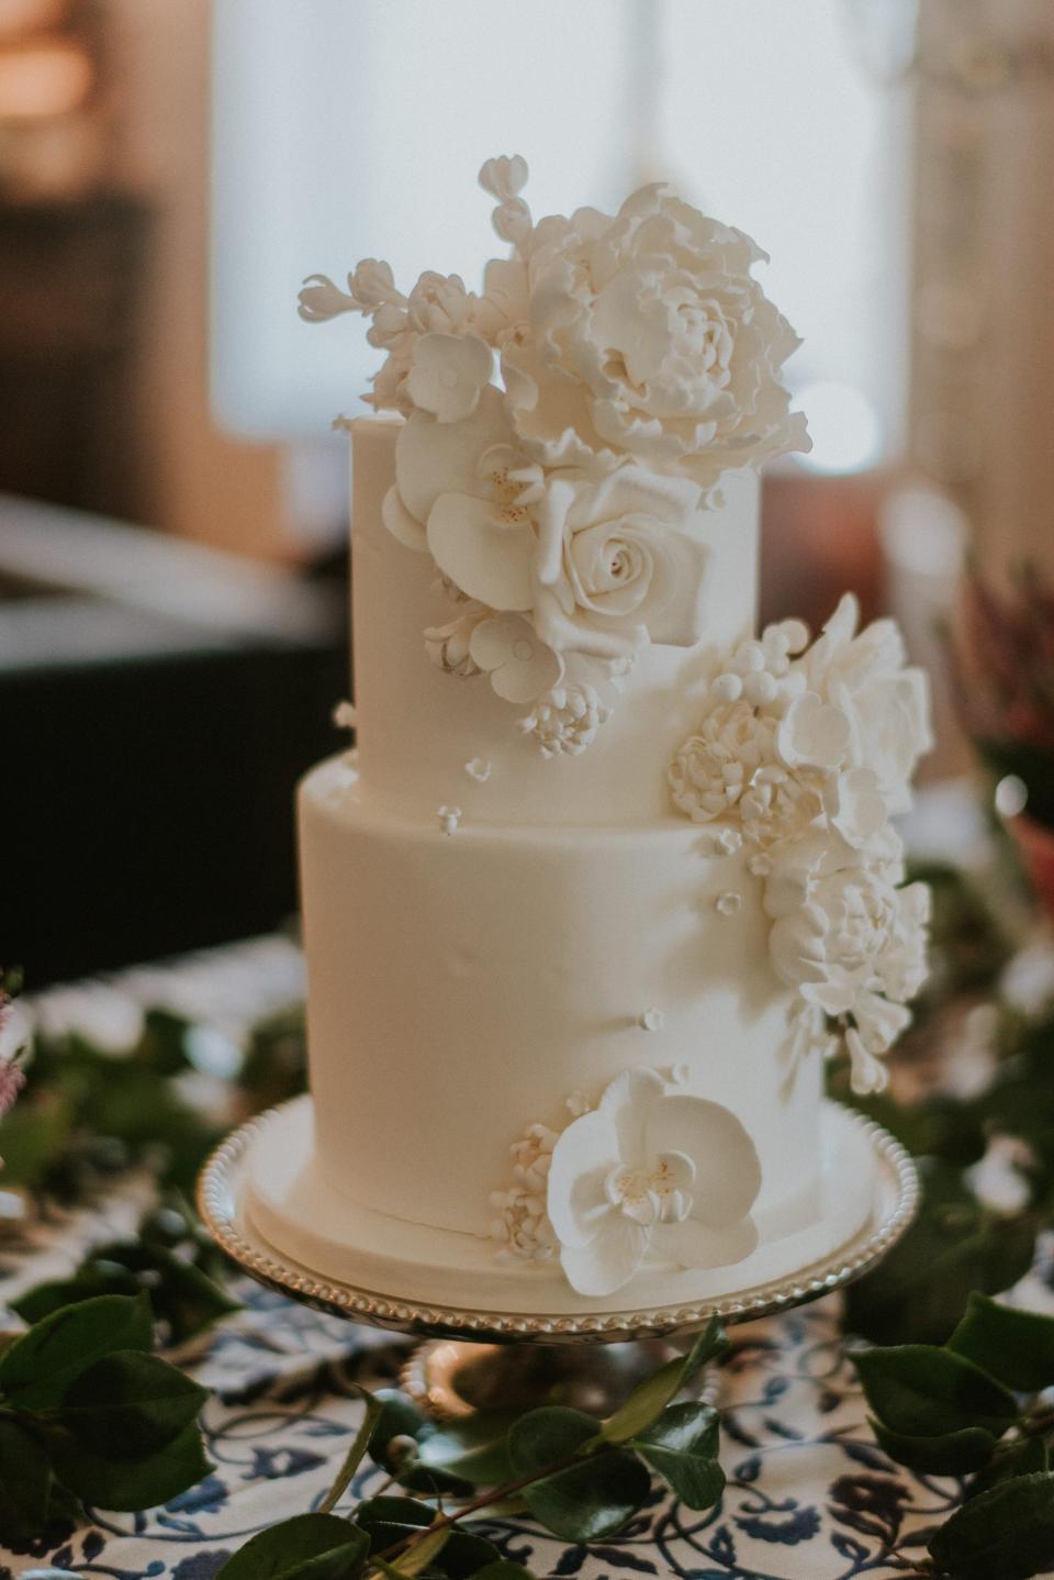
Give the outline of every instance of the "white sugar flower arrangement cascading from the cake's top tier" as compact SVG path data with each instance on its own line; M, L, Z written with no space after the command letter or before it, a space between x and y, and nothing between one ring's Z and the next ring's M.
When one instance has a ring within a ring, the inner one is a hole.
M511 245L481 294L428 272L404 295L364 259L347 289L312 275L300 313L361 313L387 352L368 400L407 420L383 520L451 604L429 659L486 673L554 757L590 744L648 643L701 640L721 474L809 441L749 237L666 186L535 223L525 182L519 156L480 172Z

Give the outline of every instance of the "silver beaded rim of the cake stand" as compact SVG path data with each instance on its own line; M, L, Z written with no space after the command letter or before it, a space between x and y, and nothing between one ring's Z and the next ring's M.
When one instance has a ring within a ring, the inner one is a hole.
M726 1322L748 1322L770 1316L789 1307L816 1300L843 1288L866 1273L907 1231L918 1210L918 1174L910 1155L893 1136L874 1120L849 1112L871 1147L879 1169L887 1176L895 1193L890 1210L882 1221L849 1239L830 1258L809 1262L789 1278L754 1285L745 1291L699 1304L663 1305L650 1310L604 1311L590 1315L532 1315L518 1316L505 1311L481 1311L432 1305L417 1300L399 1300L372 1289L336 1283L284 1261L267 1245L246 1239L237 1223L238 1171L249 1146L279 1109L240 1125L221 1142L205 1168L197 1185L200 1215L227 1256L260 1283L292 1296L306 1305L333 1316L371 1327L383 1327L398 1334L432 1338L478 1338L481 1341L535 1341L535 1343L596 1343L633 1338L650 1338L663 1334L691 1332L705 1326L712 1316Z

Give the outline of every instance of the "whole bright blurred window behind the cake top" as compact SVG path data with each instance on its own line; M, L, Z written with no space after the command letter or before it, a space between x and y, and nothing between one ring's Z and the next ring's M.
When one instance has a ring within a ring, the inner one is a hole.
M497 243L475 171L519 152L535 215L671 179L749 231L805 337L817 461L869 465L899 438L906 136L852 27L849 0L216 0L221 420L361 409L376 354L355 321L300 322L301 278L380 254L473 283Z

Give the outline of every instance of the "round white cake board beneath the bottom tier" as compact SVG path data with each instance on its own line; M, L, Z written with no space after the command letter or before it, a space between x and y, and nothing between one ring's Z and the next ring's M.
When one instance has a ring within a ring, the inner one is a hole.
M685 1270L648 1262L606 1297L576 1294L559 1262L499 1262L486 1239L404 1223L350 1202L319 1168L311 1098L297 1098L262 1120L245 1160L240 1212L254 1243L264 1242L316 1280L383 1297L393 1308L435 1305L559 1319L691 1307L732 1294L749 1305L765 1286L798 1277L808 1285L809 1269L819 1264L827 1264L824 1277L839 1281L844 1273L832 1272L832 1259L888 1221L898 1206L896 1182L876 1153L876 1130L824 1103L817 1210L808 1223L778 1206L761 1210L757 1247L735 1266Z

